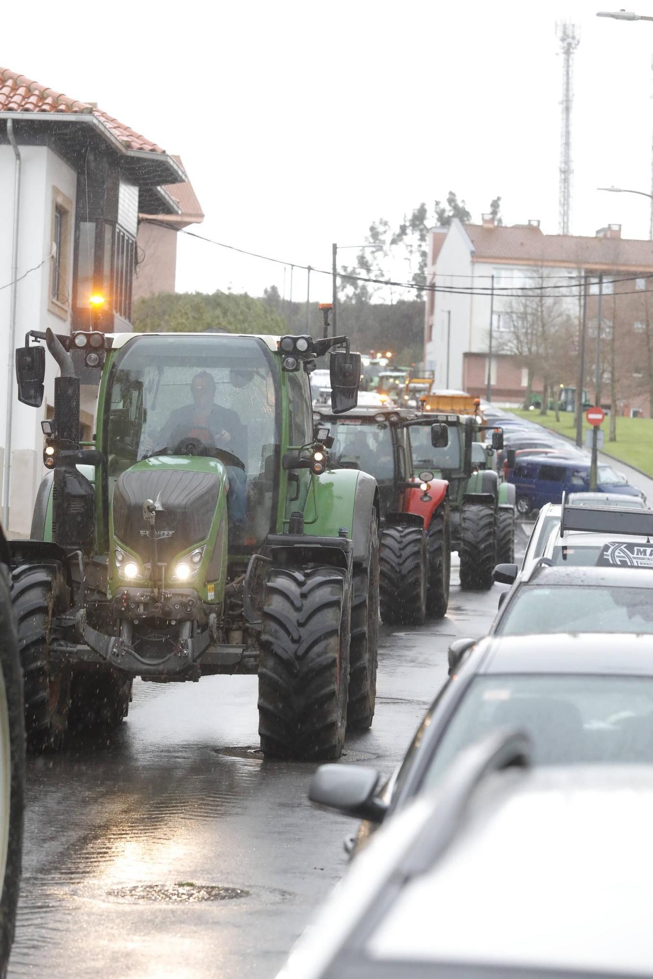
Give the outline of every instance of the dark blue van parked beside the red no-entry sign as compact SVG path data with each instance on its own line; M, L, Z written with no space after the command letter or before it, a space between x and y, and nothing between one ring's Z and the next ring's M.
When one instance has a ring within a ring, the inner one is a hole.
M560 503L563 491L589 492L589 463L552 459L550 455L527 456L517 460L515 468L508 473L508 482L515 486L518 513L526 516L545 503ZM644 496L641 490L630 486L626 477L602 463L598 465L597 484L599 492Z

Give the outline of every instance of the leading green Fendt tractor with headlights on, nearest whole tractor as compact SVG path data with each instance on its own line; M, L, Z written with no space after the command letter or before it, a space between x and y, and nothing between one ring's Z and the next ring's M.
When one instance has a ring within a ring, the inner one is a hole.
M337 758L347 721L370 726L377 484L326 471L309 373L330 350L338 413L361 371L325 334L27 334L20 399L42 402L43 341L60 369L50 472L31 539L12 541L33 749L119 723L134 676L258 675L271 756Z

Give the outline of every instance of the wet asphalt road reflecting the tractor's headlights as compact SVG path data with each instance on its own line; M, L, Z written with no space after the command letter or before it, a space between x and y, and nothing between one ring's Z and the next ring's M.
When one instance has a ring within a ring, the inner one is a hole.
M462 592L456 565L445 619L382 630L375 722L348 738L345 764L393 769L446 678L449 642L487 629L499 590ZM355 822L308 805L313 765L261 759L256 700L253 676L136 681L109 743L30 760L10 976L276 974L342 874ZM188 900L207 893L221 900Z

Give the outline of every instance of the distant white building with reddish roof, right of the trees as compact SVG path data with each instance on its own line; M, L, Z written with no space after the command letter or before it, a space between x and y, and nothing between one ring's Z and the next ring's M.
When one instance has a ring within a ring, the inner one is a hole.
M566 310L578 316L584 273L628 276L633 291L648 288L653 273L653 242L621 237L621 225L610 224L596 236L545 235L539 221L506 227L483 215L482 224L455 218L448 228L430 232L425 315L425 363L435 372L438 388L464 388L484 396L488 371L493 395L518 403L527 388L519 357L502 353L502 333L509 329L514 295L534 292L541 281L559 289ZM642 278L636 279L637 273ZM492 310L492 362L488 363ZM589 311L591 316L592 310ZM605 310L604 310L605 314ZM636 313L635 319L636 319Z

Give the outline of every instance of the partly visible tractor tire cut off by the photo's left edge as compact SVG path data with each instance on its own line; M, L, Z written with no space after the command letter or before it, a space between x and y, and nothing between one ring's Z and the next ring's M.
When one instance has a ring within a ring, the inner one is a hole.
M23 862L25 704L10 575L0 568L0 977L14 941Z

